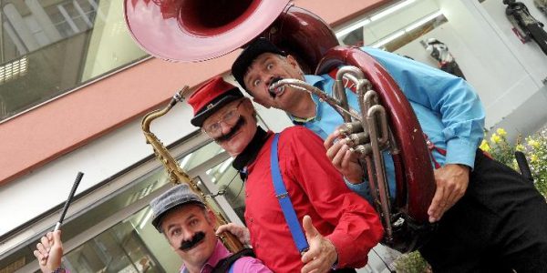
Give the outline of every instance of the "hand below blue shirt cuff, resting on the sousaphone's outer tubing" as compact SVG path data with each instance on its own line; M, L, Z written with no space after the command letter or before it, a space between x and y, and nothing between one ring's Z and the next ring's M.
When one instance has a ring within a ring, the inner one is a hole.
M429 222L440 217L463 197L470 183L470 167L447 164L435 170L437 189L428 208Z

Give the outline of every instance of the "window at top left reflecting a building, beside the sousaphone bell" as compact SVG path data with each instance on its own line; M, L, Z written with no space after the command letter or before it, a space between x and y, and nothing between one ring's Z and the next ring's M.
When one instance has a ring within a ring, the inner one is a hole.
M122 0L6 0L0 10L0 120L146 56Z

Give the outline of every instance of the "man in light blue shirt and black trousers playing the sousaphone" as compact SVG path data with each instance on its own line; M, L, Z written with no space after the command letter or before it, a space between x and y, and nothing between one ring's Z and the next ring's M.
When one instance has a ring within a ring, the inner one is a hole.
M433 269L486 271L497 266L519 272L547 270L547 204L519 174L478 150L485 114L472 87L459 77L408 58L375 48L362 49L397 82L435 147L431 164L437 167L437 189L428 215L430 222L439 221L439 229L420 248ZM345 141L334 141L342 117L317 96L291 87L269 90L276 78L296 78L332 94L332 77L304 75L293 56L263 38L243 50L232 74L255 102L284 110L295 124L323 137L327 156L346 177L348 186L366 197L367 183L362 181L363 170L356 156ZM350 106L358 109L356 96L346 93ZM385 158L394 193L393 163L391 157Z

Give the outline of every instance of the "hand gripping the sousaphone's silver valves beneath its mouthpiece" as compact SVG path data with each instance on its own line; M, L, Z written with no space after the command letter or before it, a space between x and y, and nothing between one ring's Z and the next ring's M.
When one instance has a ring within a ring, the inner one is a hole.
M336 129L326 137L323 145L326 148L326 157L331 160L335 168L352 184L363 182L363 167L359 164L357 155L349 150L346 139ZM335 139L338 141L335 142Z

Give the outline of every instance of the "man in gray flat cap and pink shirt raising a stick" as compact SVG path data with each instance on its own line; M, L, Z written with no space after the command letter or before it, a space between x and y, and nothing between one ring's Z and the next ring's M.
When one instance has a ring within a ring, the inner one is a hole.
M216 217L188 185L178 185L150 202L152 225L182 258L181 273L270 273L259 259L233 256L215 235ZM42 272L65 272L60 233L42 238L35 256ZM51 250L49 250L51 249ZM49 250L49 251L47 251ZM56 269L57 268L57 269Z

